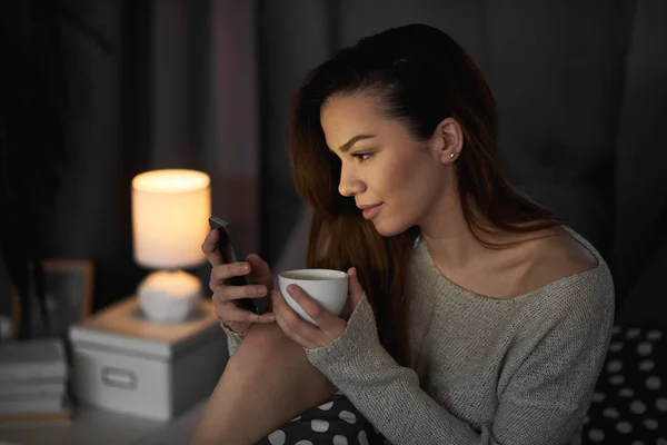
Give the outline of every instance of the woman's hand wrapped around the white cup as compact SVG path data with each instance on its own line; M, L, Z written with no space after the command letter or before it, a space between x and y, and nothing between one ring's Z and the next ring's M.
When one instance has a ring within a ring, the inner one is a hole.
M287 304L280 290L275 289L271 293L272 310L276 322L285 335L308 349L327 346L342 335L347 327L347 320L321 307L319 303L297 285L288 286L287 291L319 326L301 318ZM348 270L348 294L351 313L364 295L361 285L357 279L357 269L354 267Z

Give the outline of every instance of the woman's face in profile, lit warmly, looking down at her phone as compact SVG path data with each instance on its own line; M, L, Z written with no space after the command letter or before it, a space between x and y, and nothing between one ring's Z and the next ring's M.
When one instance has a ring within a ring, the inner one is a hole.
M368 95L332 96L320 122L329 149L342 162L339 192L355 198L380 235L421 226L441 207L451 174L439 128L431 139L417 141L401 121L382 117Z

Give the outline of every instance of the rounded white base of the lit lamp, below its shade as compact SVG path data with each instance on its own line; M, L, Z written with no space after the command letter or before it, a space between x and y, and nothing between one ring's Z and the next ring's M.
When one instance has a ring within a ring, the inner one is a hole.
M139 305L156 323L183 323L197 307L201 283L183 270L158 270L137 287Z

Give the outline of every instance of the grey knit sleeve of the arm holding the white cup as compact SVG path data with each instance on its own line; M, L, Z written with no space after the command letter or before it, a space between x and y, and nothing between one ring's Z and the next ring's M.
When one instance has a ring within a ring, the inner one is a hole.
M385 350L365 297L346 332L307 356L392 444L566 444L586 409L611 327L608 312L569 314L571 320L552 326L540 347L519 357L495 417L479 428L431 398L416 373ZM545 373L547 364L552 370Z

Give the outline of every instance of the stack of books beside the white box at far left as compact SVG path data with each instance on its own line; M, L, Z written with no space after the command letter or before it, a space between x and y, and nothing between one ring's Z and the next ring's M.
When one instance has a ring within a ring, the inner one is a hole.
M61 339L0 344L0 425L69 422Z

